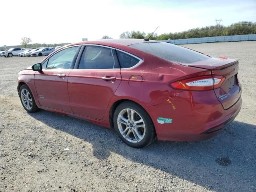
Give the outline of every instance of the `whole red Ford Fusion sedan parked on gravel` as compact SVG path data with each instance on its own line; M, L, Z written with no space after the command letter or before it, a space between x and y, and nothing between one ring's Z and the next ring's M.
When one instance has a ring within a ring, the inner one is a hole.
M19 72L28 112L49 110L114 128L132 147L216 135L242 105L238 60L166 42L87 41Z

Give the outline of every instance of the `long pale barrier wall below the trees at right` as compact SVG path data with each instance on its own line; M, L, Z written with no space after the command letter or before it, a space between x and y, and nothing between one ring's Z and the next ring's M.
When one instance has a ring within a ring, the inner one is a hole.
M256 34L250 35L232 35L232 36L216 36L216 37L202 37L202 38L190 38L190 39L174 39L174 40L162 40L172 44L194 44L194 43L213 43L213 42L231 42L231 41L254 41L256 40Z

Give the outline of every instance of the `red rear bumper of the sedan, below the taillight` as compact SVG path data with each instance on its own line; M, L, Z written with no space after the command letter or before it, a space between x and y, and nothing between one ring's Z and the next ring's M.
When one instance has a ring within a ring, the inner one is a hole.
M158 140L199 141L211 138L236 118L242 106L241 97L232 107L224 110L212 92L194 97L196 94L201 93L186 93L184 98L172 97L176 99L172 100L175 109L166 101L146 107L154 122ZM172 123L159 124L158 117L172 118Z

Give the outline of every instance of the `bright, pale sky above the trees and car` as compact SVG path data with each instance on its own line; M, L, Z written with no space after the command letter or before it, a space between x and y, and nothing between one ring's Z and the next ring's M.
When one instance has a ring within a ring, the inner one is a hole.
M0 46L119 38L122 32L181 32L239 21L256 22L256 0L4 0Z

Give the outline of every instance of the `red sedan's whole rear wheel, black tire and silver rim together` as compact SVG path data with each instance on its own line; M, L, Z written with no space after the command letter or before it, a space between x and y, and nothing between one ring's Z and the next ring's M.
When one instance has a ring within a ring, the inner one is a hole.
M123 142L134 148L148 146L155 138L150 116L134 102L123 102L116 108L114 128Z

